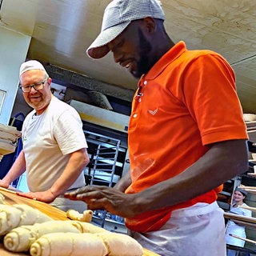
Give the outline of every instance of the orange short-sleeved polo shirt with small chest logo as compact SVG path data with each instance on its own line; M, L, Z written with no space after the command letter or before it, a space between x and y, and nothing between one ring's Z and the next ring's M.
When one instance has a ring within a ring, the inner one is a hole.
M206 154L210 143L246 138L230 65L213 51L186 50L178 42L138 82L128 130L132 184L126 193L180 174ZM172 210L214 202L220 190L139 214L126 219L126 226L158 230Z

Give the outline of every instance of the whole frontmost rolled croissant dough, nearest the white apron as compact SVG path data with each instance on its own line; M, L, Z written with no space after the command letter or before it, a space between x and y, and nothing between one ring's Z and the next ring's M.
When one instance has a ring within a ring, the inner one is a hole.
M129 235L51 233L30 246L32 256L142 256L142 246Z

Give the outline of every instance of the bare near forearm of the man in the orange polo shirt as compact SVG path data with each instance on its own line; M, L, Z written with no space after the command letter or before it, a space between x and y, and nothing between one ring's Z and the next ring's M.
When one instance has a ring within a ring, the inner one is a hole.
M135 195L140 209L155 210L195 198L247 170L246 141L220 142L174 178Z

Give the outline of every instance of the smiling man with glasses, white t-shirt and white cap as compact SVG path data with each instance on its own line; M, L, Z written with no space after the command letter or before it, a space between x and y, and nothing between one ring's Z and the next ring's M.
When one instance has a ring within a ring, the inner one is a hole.
M72 106L54 97L51 78L36 60L22 63L20 88L34 108L22 126L23 149L2 180L8 188L26 171L29 193L18 193L51 203L61 210L86 210L86 203L64 198L66 191L85 186L83 169L90 161L82 121Z

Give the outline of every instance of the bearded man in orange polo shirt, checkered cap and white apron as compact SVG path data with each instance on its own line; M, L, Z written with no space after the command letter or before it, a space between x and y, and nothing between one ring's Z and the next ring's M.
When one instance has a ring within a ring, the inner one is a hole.
M157 254L224 256L217 194L248 167L234 70L214 51L175 44L164 20L157 0L106 7L87 54L112 52L139 78L128 130L130 172L114 188L86 186L64 196L126 218L131 235Z

